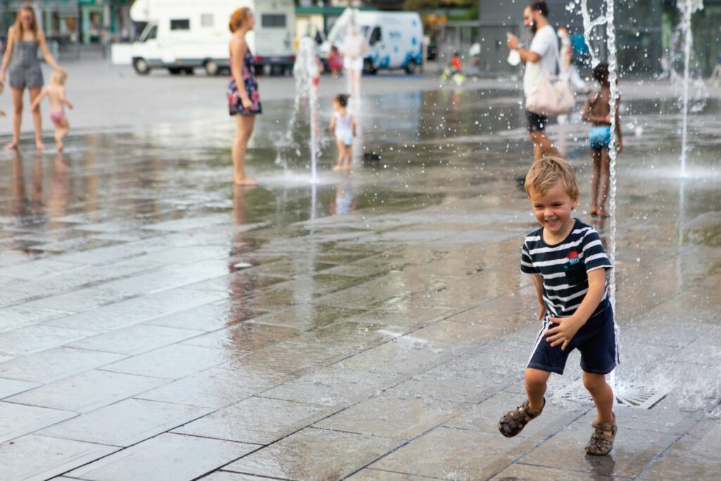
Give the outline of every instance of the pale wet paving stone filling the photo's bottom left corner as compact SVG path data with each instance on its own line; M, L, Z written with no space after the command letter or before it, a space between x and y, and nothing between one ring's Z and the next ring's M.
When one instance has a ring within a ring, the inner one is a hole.
M55 476L117 450L113 446L31 434L0 444L0 472L7 480L63 479Z

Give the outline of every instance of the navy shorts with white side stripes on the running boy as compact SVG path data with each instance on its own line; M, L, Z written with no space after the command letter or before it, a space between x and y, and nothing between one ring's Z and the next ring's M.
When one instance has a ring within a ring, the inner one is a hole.
M565 350L561 349L560 344L552 348L543 334L545 330L556 326L557 324L544 319L541 332L536 337L531 360L528 361L529 368L563 374L566 359L574 349L580 350L581 369L585 372L609 374L619 364L614 311L608 300L599 304L596 312L576 332Z

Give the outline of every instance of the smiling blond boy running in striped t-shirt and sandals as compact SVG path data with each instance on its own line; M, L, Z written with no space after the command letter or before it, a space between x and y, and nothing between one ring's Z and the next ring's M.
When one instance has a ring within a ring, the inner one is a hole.
M543 411L551 373L563 374L568 354L581 353L583 385L596 403L588 454L602 456L614 446L614 394L605 374L618 363L614 313L606 292L611 262L593 227L574 219L578 185L573 168L558 157L544 157L526 175L526 193L536 221L521 248L521 272L533 275L543 327L526 367L523 405L503 415L498 429L516 436Z

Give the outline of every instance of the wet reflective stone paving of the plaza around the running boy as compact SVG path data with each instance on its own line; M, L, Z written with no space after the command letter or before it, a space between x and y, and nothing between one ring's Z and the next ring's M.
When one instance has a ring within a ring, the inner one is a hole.
M518 272L519 239L534 226L518 185L531 150L518 98L365 99L358 156L380 158L335 175L326 145L314 187L308 116L291 144L275 147L288 107L269 102L260 119L249 168L262 186L252 189L229 185L231 123L2 155L4 476L719 472L717 102L692 117L684 180L672 103L624 102L618 376L671 394L651 410L619 408L606 459L583 456L590 405L549 402L512 440L495 428L522 401L538 327L530 280ZM329 111L323 104L321 125ZM588 221L585 129L572 117L551 135L578 169L578 216ZM596 225L607 241L607 226ZM551 389L579 376L573 355Z

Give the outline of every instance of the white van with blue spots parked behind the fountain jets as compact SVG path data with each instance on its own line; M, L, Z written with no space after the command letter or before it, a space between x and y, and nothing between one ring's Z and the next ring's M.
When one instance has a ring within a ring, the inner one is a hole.
M366 38L364 70L376 72L379 69L404 69L415 73L423 63L423 24L415 12L361 12L346 9L338 17L328 33L328 40L321 48L327 54L330 45L340 45L355 23L361 35Z

